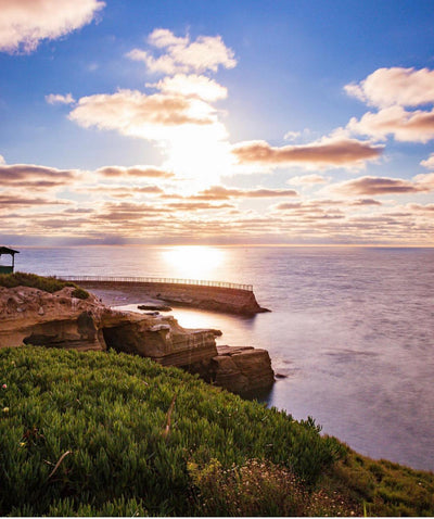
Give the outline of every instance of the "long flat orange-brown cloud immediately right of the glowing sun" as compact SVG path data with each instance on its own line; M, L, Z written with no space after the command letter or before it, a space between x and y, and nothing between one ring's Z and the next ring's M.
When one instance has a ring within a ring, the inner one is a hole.
M378 159L382 147L345 137L324 138L304 145L273 148L263 140L241 142L232 147L239 163L294 164L305 167L360 167Z

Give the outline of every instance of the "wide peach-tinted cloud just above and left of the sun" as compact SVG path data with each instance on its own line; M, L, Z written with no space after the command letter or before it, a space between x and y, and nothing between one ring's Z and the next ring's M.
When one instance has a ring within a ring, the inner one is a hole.
M138 90L118 90L81 98L69 118L85 128L114 129L126 136L165 139L170 129L187 125L212 126L214 109L200 99Z

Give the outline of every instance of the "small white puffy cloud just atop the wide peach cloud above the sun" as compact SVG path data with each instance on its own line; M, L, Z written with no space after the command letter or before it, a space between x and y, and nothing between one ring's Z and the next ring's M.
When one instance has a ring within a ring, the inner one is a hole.
M163 93L179 94L182 97L197 97L204 101L217 101L228 97L228 89L214 79L197 74L177 74L166 76L155 84L146 84L146 87L158 89Z

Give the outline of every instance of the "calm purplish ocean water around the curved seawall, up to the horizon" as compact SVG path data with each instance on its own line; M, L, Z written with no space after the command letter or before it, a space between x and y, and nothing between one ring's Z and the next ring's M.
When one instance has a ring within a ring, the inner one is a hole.
M434 249L90 246L21 249L20 270L253 283L242 318L176 309L220 344L265 347L268 403L374 458L434 470Z

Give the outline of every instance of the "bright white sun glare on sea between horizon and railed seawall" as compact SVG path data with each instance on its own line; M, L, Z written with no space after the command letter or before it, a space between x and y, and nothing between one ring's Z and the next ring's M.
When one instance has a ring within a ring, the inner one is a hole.
M221 280L226 251L205 245L173 246L162 252L173 277ZM221 278L221 279L220 279Z

